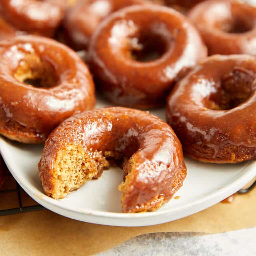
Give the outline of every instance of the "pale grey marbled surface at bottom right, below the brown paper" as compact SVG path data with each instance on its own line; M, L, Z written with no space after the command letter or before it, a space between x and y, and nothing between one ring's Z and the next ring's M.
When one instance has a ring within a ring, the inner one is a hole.
M223 234L153 233L130 239L97 256L255 256L256 227Z

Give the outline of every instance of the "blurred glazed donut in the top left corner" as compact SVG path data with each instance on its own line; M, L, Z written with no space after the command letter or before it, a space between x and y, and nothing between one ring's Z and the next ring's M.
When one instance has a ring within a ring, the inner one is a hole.
M63 19L62 0L1 0L0 15L17 30L52 37Z

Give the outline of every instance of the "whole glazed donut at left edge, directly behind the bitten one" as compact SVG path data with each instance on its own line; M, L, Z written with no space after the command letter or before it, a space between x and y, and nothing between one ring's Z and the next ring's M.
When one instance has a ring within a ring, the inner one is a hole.
M0 41L0 134L43 143L60 122L94 107L90 72L68 47L39 36Z

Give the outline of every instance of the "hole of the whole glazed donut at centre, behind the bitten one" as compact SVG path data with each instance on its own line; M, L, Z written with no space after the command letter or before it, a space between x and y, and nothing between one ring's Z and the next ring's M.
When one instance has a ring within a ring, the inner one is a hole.
M139 62L159 59L166 50L165 40L157 34L142 34L131 39L131 58Z

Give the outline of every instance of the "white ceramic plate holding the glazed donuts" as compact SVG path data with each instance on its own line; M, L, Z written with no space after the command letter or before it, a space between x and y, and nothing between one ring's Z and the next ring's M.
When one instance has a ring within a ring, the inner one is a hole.
M103 101L99 106L106 106ZM151 111L165 118L165 110ZM121 213L122 171L111 168L98 180L88 181L65 199L54 200L43 193L37 163L43 146L23 145L0 137L0 152L14 178L39 204L66 217L115 226L146 226L176 220L206 209L238 191L254 176L256 162L240 164L205 164L186 158L187 178L183 187L155 212Z

